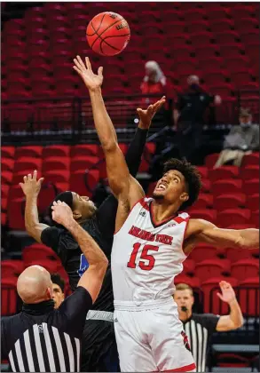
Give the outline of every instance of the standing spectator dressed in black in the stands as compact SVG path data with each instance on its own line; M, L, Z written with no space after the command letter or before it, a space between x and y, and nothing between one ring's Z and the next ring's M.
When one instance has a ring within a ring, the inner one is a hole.
M202 145L204 115L211 105L220 105L220 96L210 95L201 88L200 78L190 75L188 90L180 93L173 111L174 127L180 158L198 163L197 155Z

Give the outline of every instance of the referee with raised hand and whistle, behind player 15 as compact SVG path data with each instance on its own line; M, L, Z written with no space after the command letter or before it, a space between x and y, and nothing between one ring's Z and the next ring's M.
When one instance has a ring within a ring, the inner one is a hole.
M199 372L204 372L206 369L207 348L211 335L215 331L238 329L243 325L243 315L231 284L222 281L219 282L219 286L221 293L217 293L218 298L230 306L230 313L224 316L213 313L193 313L193 289L185 283L177 284L173 296Z

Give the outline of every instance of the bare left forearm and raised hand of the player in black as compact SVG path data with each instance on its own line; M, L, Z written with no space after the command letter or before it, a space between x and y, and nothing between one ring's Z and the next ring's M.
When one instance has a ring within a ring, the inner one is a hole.
M20 183L20 187L26 196L25 227L28 234L36 242L42 243L42 232L49 227L39 222L37 209L37 198L41 190L43 178L37 180L37 171L34 171L33 175L29 173L28 176L24 176L23 181L23 183Z

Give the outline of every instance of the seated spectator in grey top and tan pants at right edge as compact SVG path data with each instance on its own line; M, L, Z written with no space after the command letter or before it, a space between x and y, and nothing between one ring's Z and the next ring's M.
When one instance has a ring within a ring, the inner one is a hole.
M241 165L244 155L259 149L259 125L252 123L249 108L240 109L240 125L234 125L225 137L224 150L220 153L215 168L224 164Z

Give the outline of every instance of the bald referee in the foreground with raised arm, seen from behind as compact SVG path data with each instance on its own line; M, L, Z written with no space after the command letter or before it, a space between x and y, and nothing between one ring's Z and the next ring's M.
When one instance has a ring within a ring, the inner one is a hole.
M26 177L25 177L26 178ZM86 314L98 298L107 259L98 244L79 226L64 202L52 206L52 218L66 226L89 262L75 292L54 309L51 275L29 266L17 282L22 311L1 321L2 359L13 372L78 372Z

